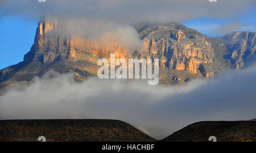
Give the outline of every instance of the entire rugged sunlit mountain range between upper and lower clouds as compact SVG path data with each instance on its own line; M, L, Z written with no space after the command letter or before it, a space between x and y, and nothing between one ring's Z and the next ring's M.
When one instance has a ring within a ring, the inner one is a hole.
M255 32L233 32L209 38L179 22L134 25L143 49L128 52L117 43L82 39L61 33L63 23L44 18L38 23L35 42L24 61L0 71L0 88L14 82L27 83L53 69L74 72L78 81L97 75L97 61L110 53L123 58L159 58L159 82L183 84L209 78L227 68L244 68L255 61Z

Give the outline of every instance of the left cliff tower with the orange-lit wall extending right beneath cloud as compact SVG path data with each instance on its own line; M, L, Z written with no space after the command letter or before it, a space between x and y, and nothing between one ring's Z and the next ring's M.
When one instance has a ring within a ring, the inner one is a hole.
M80 22L86 22L84 20ZM65 25L64 25L65 24ZM79 60L76 49L93 55L125 55L127 48L117 42L107 42L99 38L97 40L85 39L65 33L65 28L70 22L59 22L57 19L42 18L38 23L35 35L35 43L31 51L24 56L25 62L42 61L52 63L54 60ZM86 60L86 59L84 59Z

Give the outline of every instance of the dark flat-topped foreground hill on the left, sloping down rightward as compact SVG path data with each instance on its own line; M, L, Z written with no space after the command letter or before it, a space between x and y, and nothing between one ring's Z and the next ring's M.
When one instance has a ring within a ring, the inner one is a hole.
M155 141L126 122L112 119L20 119L0 121L0 141Z

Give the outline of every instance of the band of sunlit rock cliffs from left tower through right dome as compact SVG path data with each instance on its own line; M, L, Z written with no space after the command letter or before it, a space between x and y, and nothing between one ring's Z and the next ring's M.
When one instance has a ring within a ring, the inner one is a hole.
M160 66L177 71L202 73L204 77L213 75L213 70L208 65L213 64L214 52L205 36L197 33L193 38L187 31L179 30L180 23L144 27L139 32L143 41L143 49L137 51L138 55L147 54L146 58L160 55ZM31 51L24 56L24 61L34 60L43 63L52 63L59 59L77 60L75 49L96 55L109 55L115 53L119 57L130 57L128 49L119 44L107 44L73 36L60 36L56 31L56 19L42 20L36 30L35 44ZM84 59L86 60L86 59Z

